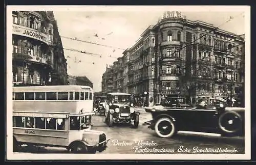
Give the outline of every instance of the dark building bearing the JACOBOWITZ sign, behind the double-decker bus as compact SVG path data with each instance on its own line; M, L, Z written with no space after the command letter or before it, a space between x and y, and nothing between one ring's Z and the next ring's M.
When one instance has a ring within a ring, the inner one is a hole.
M68 85L67 60L52 11L13 11L13 86Z

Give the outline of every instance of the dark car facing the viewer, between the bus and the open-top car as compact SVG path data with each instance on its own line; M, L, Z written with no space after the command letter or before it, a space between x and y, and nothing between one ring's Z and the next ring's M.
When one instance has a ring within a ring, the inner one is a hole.
M105 122L112 127L114 123L134 123L134 127L139 126L138 111L134 110L131 103L131 94L108 93L105 108Z

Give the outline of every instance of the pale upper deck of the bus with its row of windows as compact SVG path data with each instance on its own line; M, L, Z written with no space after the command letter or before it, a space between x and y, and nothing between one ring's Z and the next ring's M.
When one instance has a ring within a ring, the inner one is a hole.
M93 90L88 86L13 87L13 111L90 113Z

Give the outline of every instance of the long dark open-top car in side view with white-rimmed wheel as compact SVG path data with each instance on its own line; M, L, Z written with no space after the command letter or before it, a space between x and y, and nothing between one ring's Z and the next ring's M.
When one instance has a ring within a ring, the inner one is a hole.
M244 107L152 106L145 108L153 120L143 123L160 137L171 137L177 131L221 133L225 136L244 135Z

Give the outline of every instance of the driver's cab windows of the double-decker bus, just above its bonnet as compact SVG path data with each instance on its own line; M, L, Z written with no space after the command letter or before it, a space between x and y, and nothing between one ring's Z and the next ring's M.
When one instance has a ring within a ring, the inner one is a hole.
M89 128L91 115L70 116L70 130L82 130Z

